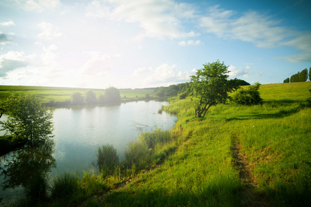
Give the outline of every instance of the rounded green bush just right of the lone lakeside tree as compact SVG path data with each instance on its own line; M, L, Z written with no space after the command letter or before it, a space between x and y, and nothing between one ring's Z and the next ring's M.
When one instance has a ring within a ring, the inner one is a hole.
M252 86L248 86L247 89L240 88L230 97L232 103L241 105L254 105L262 103L261 95L259 93L260 83L255 83Z

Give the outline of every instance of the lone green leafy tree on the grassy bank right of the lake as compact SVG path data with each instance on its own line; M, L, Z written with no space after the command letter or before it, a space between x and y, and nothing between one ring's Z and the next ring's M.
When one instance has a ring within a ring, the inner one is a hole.
M227 80L229 71L225 63L218 60L203 66L204 68L196 71L196 75L191 76L195 116L202 118L205 117L209 107L224 103L228 92L238 88L236 79Z

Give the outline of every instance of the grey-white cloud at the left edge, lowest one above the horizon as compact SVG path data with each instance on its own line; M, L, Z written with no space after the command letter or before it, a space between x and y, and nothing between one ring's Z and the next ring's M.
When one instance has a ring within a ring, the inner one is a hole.
M35 55L26 56L23 52L10 51L0 55L0 77L6 77L8 72L29 65Z

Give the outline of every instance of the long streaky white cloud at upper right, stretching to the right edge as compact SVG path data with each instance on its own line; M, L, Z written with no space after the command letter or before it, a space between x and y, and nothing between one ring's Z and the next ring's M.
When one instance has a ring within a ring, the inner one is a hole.
M259 48L290 46L301 51L299 55L280 57L290 62L311 60L311 34L292 28L278 26L280 21L249 11L236 17L232 10L223 10L219 6L209 8L205 17L199 18L198 26L206 32L216 34L223 39L238 39L254 43Z

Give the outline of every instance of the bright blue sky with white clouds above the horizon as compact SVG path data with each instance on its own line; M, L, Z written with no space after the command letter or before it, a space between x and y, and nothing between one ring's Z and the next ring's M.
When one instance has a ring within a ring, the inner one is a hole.
M219 60L283 83L311 66L309 0L1 0L0 85L151 88Z

